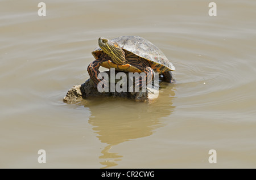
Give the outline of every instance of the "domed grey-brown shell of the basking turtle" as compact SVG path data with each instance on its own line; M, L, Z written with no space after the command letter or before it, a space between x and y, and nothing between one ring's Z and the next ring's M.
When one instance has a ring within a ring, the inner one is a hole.
M150 61L151 63L156 63L165 67L168 67L170 71L175 71L174 65L170 61L168 61L166 55L152 44L150 41L144 39L143 37L139 36L121 36L117 38L113 38L111 41L117 42L122 49L127 50L139 57ZM96 49L93 50L92 54L94 58L98 59L98 55L101 54L103 51L98 46Z

